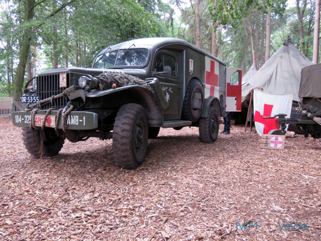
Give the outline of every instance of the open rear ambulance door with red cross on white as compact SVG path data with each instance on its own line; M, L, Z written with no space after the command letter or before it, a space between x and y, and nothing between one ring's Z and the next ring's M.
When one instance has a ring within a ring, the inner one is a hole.
M225 111L241 111L242 71L237 68L226 68L226 109Z

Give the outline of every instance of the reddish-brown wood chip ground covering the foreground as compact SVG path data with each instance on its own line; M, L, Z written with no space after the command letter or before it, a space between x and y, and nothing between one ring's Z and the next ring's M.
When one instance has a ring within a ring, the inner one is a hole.
M195 127L161 129L121 170L111 140L34 159L1 117L0 240L320 240L320 141L259 143L244 126L210 145Z

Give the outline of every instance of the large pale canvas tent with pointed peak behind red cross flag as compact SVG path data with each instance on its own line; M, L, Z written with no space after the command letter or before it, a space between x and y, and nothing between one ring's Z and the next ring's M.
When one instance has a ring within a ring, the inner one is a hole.
M242 85L242 100L252 89L259 88L267 94L294 94L293 101L299 102L301 69L311 64L288 36L260 70Z

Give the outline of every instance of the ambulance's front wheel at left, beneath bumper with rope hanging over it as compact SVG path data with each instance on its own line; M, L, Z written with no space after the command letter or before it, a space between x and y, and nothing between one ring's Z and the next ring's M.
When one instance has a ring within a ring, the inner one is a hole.
M57 136L54 129L45 129L46 141L43 143L43 156L56 156L63 147L65 140ZM27 127L22 128L22 140L24 147L34 157L40 157L40 130L31 130Z

